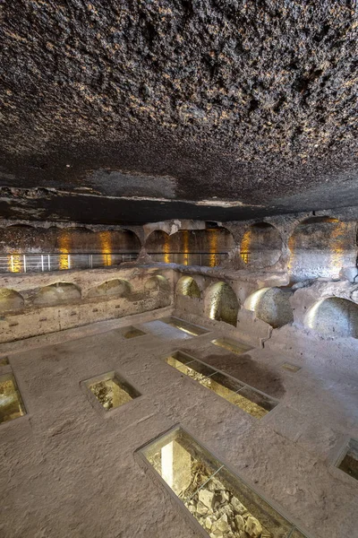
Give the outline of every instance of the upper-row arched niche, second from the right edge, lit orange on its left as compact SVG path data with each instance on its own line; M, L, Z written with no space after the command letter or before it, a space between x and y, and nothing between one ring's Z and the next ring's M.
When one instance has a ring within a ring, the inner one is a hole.
M282 239L275 226L268 222L252 224L245 231L240 246L240 256L251 267L275 265L282 253Z

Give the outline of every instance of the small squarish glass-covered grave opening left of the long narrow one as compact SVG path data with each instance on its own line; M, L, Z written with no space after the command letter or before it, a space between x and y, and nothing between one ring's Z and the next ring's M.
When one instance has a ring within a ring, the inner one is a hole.
M84 382L106 411L131 402L141 394L115 372L108 372Z

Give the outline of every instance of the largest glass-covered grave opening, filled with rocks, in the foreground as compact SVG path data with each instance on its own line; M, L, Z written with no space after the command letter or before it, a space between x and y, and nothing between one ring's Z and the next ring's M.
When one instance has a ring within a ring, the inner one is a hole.
M209 536L307 536L183 428L139 452Z

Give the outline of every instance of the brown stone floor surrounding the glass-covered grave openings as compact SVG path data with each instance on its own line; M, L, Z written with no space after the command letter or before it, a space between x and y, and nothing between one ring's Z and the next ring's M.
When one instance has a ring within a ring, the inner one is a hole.
M3 538L199 536L134 452L181 423L311 538L358 536L358 482L334 462L358 438L358 379L312 363L292 373L289 354L236 355L158 321L168 310L0 346L28 414L0 425ZM120 327L147 334L125 339ZM230 334L233 337L233 334ZM165 362L187 351L279 400L261 420ZM115 370L140 393L111 412L81 381Z

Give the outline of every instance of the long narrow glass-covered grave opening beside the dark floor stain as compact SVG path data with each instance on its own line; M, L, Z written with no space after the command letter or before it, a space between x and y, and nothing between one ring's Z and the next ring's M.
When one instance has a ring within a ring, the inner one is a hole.
M277 405L277 401L270 396L183 351L175 351L166 357L166 363L257 419L264 417Z

